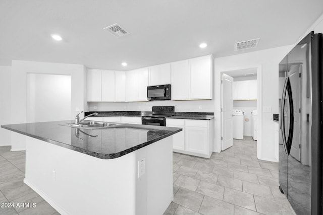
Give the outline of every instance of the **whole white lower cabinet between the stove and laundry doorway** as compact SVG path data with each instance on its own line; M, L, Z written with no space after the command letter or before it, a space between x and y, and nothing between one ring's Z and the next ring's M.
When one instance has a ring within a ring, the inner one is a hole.
M210 158L213 152L213 120L166 119L168 127L181 127L173 135L173 151Z

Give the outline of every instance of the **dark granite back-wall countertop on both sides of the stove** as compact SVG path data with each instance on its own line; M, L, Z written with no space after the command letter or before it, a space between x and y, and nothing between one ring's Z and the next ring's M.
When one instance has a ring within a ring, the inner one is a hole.
M97 117L104 116L133 116L141 117L151 114L151 111L88 111L84 115L98 113ZM214 119L213 112L175 112L175 116L168 118L172 119L195 119L195 120L211 120ZM94 116L95 117L95 116Z

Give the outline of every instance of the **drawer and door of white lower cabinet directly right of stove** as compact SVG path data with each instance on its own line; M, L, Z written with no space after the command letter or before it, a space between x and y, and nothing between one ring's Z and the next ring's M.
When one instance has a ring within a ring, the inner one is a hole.
M167 127L176 127L176 128L182 128L183 130L175 133L173 135L173 149L174 150L185 150L185 120L184 119L166 119L166 125Z

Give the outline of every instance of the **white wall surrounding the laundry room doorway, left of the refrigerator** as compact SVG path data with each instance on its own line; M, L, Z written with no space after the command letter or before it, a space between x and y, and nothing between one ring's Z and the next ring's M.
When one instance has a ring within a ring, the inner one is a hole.
M214 59L214 117L216 120L216 132L214 141L214 151L221 151L221 72L227 70L236 70L248 67L261 68L262 85L262 106L271 107L271 112L262 113L262 143L259 159L275 160L274 147L274 125L273 113L278 113L278 63L293 48L293 45L279 48L266 49L261 51L238 54L228 57ZM258 110L259 112L259 110Z

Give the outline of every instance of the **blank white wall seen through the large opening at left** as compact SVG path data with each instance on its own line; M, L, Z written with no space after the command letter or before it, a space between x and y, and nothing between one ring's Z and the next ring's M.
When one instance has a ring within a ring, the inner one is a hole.
M27 74L27 122L71 118L71 76Z

